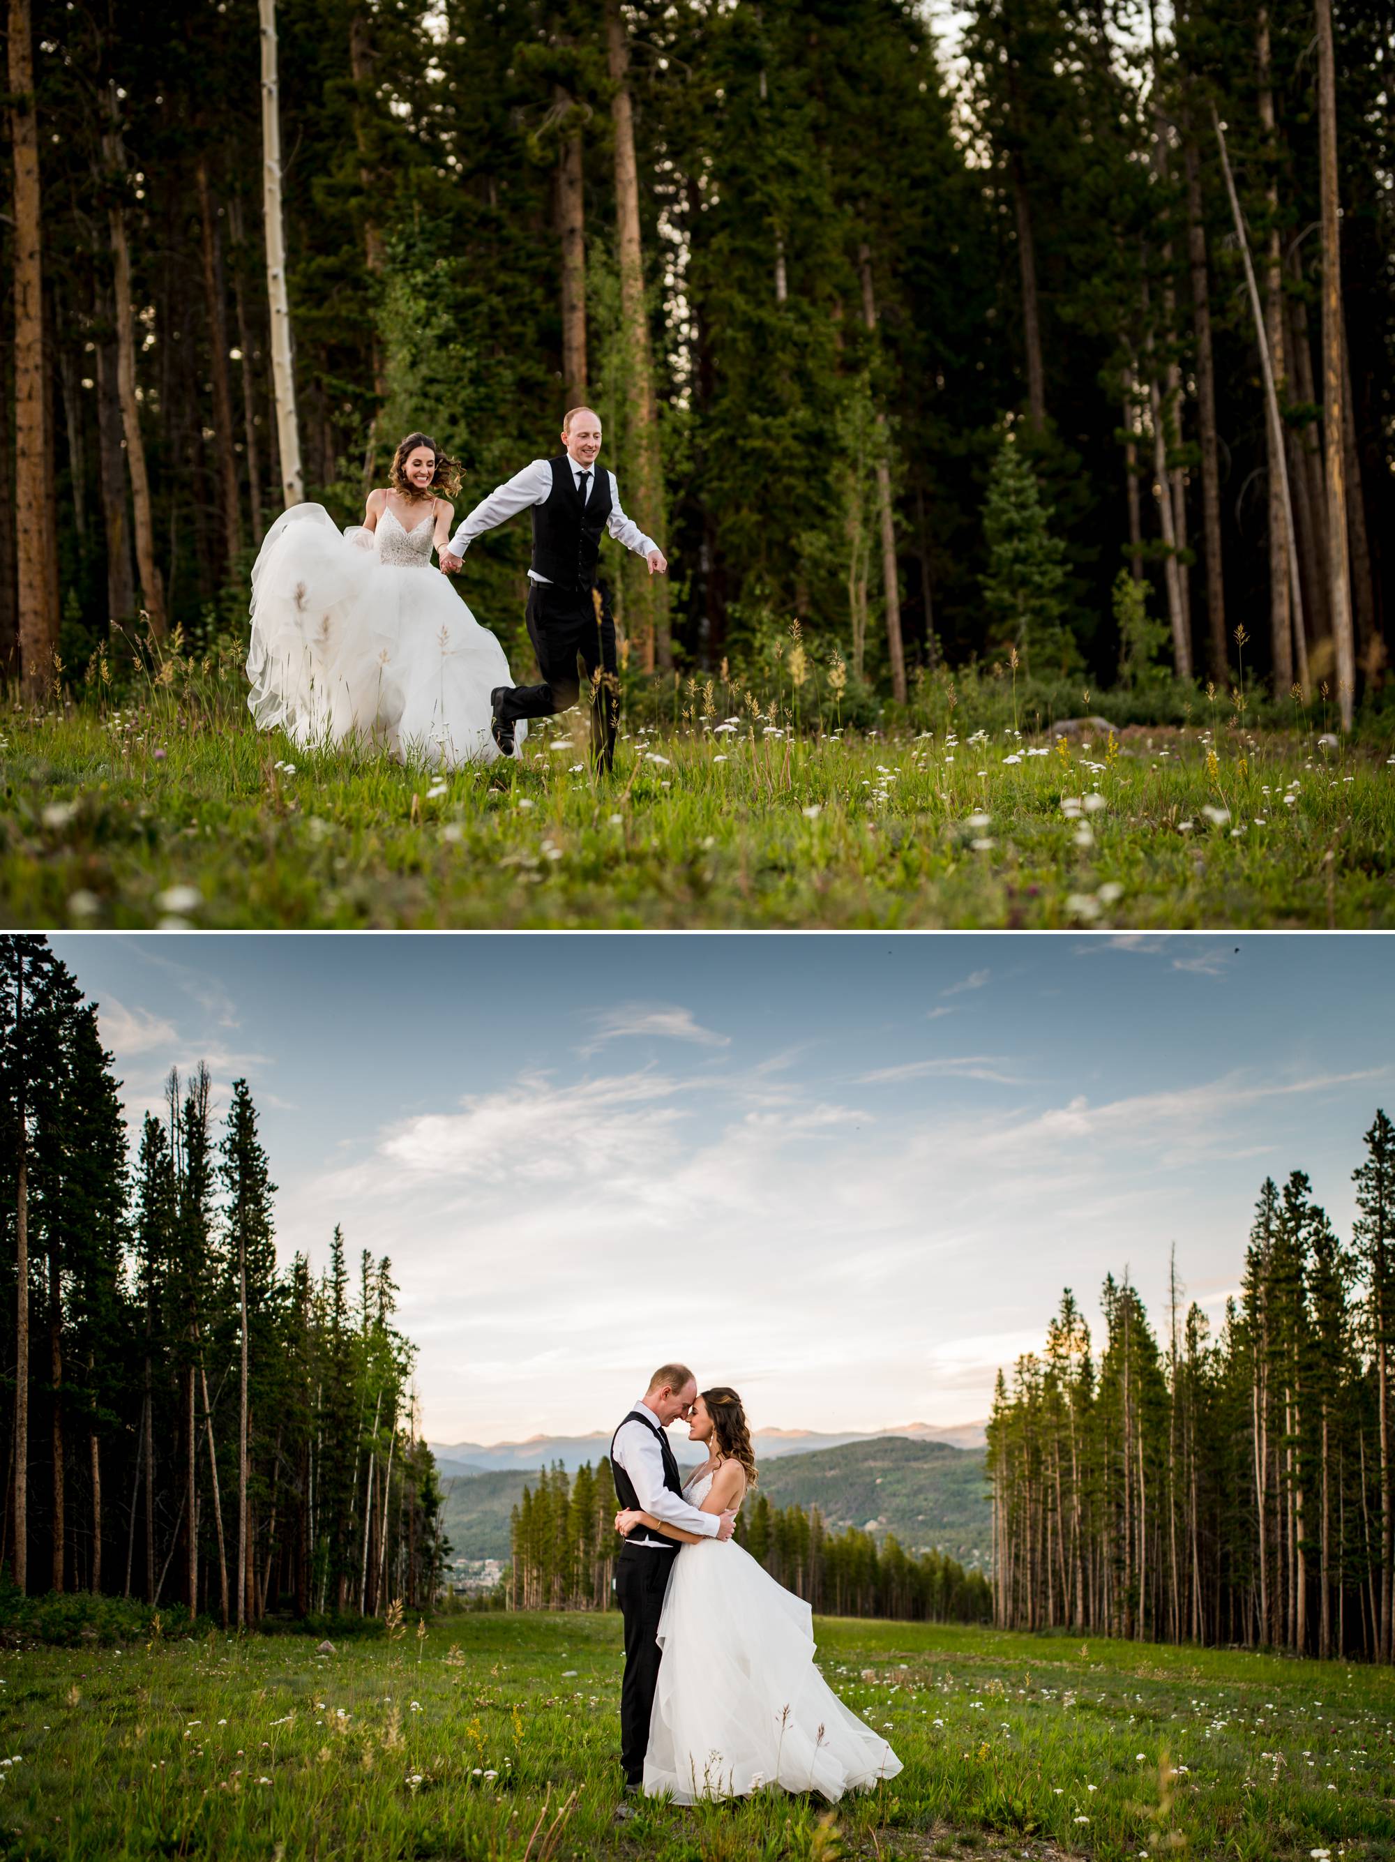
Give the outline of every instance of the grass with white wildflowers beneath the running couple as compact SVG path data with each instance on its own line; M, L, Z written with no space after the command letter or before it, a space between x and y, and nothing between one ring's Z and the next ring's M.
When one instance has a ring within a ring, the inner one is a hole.
M1389 745L1317 724L717 734L738 700L698 689L697 724L631 713L609 778L568 715L436 780L259 735L231 663L179 665L123 711L0 715L7 924L1395 924Z

